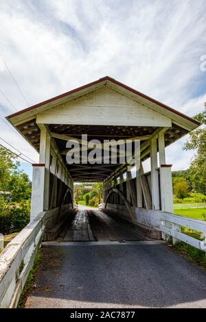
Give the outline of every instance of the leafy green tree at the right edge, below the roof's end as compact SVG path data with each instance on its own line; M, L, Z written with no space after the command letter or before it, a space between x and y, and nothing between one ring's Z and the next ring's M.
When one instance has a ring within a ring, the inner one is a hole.
M201 123L201 127L192 131L190 138L183 146L184 150L196 150L189 168L190 180L198 193L206 194L206 106L205 110L197 114L194 119Z

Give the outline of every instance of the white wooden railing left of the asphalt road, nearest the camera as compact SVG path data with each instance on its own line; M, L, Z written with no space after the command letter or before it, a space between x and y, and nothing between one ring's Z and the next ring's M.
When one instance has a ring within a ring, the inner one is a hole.
M0 308L16 308L41 245L44 221L41 212L0 254Z

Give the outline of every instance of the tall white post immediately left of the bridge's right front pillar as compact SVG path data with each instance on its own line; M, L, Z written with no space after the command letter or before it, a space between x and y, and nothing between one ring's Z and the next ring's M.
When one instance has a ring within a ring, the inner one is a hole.
M157 172L157 138L150 141L152 209L159 210L159 177Z

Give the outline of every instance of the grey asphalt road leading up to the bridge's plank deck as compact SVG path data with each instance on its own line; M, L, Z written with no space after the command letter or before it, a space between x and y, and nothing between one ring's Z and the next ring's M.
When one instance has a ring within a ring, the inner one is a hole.
M206 308L206 273L168 245L43 247L27 308Z

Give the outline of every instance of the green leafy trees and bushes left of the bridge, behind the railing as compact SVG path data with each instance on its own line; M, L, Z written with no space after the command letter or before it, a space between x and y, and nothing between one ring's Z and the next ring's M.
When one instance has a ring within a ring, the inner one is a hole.
M30 219L30 197L32 183L28 176L19 170L19 162L14 155L0 147L0 232L19 232Z

